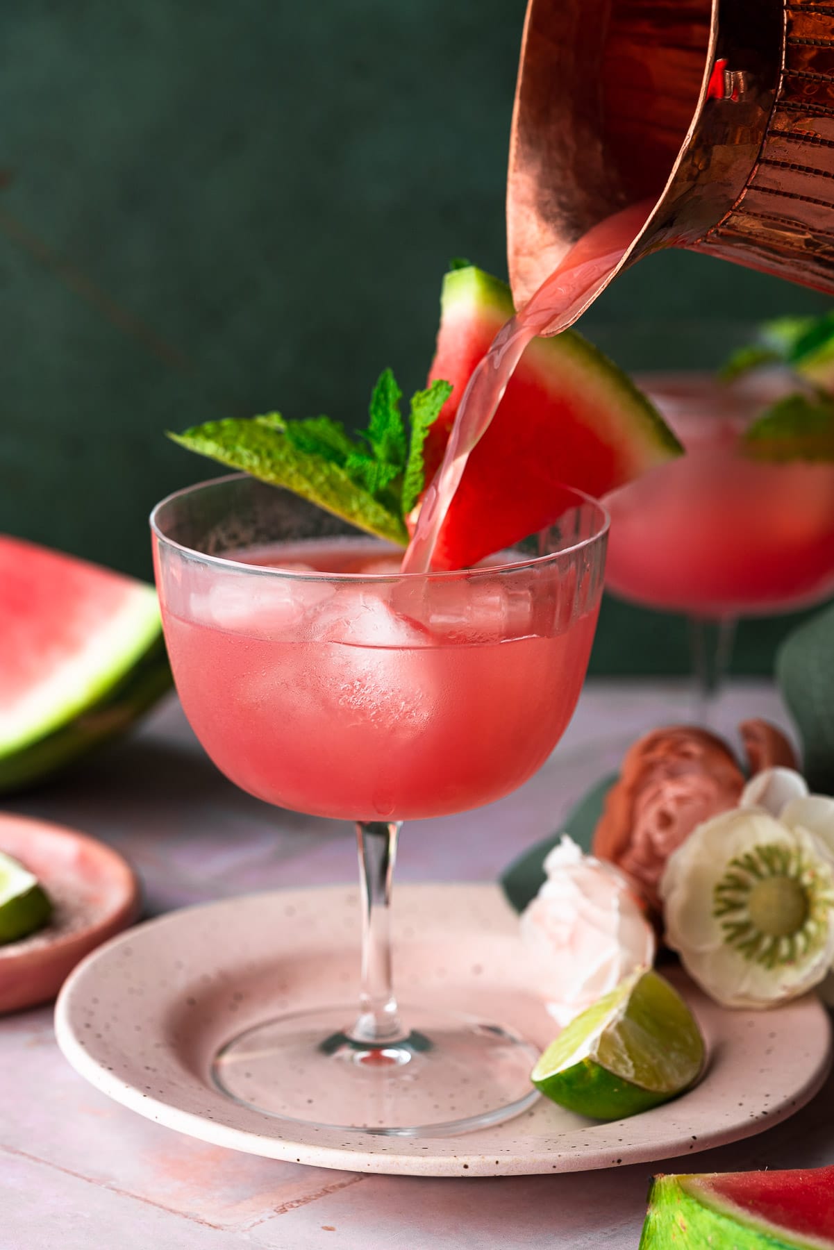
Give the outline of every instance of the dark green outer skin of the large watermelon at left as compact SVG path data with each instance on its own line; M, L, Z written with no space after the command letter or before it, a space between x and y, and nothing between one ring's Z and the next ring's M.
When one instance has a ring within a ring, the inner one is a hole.
M13 794L65 769L124 734L174 685L161 632L115 685L38 741L0 755L0 794Z

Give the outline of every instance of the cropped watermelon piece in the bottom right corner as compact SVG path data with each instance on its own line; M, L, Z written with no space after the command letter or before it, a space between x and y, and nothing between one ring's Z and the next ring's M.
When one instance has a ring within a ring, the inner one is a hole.
M834 1250L834 1168L656 1176L640 1250Z

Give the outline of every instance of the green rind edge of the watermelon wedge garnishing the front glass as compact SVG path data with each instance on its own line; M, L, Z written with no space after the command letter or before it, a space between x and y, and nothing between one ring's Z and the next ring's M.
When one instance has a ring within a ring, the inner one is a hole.
M441 330L460 319L461 324L483 324L484 312L493 309L495 329L513 315L513 298L506 282L481 269L455 269L445 275L441 294ZM683 448L646 395L613 360L576 330L564 330L548 339L535 339L526 349L524 361L536 371L541 360L543 385L549 376L561 391L565 382L589 404L599 396L600 408L618 414L616 430L626 459L639 462L640 470L653 462L661 464ZM524 366L520 366L524 368Z

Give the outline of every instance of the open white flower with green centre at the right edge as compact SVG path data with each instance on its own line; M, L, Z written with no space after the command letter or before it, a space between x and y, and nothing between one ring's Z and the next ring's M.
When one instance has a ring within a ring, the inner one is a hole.
M764 1008L819 985L834 961L834 799L766 769L740 805L699 825L660 880L666 942L719 1002Z

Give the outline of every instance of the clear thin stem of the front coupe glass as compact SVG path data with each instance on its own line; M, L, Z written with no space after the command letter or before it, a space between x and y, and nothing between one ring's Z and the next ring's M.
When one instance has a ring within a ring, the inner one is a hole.
M354 1041L371 1045L388 1045L405 1036L391 974L391 882L399 831L399 821L356 822L363 901L363 964L360 1014L350 1036Z

